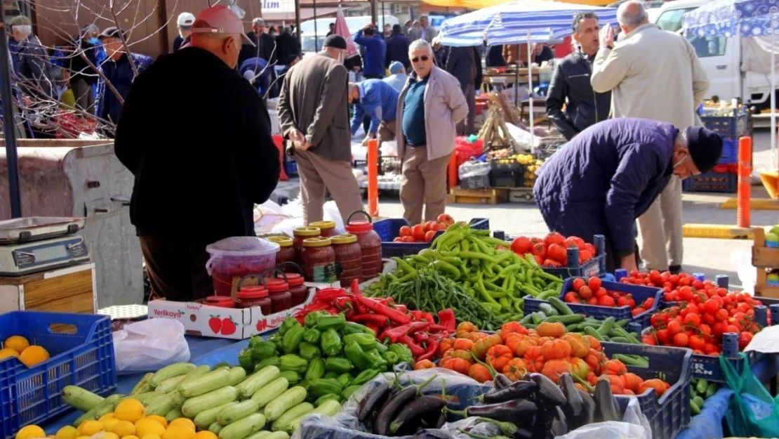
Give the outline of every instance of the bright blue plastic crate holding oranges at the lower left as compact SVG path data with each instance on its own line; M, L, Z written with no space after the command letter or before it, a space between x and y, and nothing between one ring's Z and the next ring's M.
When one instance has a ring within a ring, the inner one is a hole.
M0 437L71 409L62 388L76 385L105 395L116 388L111 318L89 314L15 311L0 315L0 339L23 335L51 359L33 367L0 360Z

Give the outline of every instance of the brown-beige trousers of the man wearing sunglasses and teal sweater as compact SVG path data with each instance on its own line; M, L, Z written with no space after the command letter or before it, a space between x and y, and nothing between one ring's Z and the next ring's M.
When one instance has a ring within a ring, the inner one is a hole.
M411 225L421 224L423 206L425 221L435 221L446 210L446 167L450 155L428 161L425 145L406 147L400 202L405 211L403 217Z

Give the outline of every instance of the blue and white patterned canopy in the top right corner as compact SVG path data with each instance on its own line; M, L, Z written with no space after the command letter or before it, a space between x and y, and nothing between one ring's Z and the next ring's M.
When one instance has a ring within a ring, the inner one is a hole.
M715 0L687 12L682 27L700 37L734 37L741 27L742 37L774 34L779 30L779 0Z

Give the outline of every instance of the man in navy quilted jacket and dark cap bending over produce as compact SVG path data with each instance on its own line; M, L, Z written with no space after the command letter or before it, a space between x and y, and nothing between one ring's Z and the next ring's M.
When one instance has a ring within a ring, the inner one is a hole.
M722 139L698 126L618 118L584 129L538 172L534 195L549 230L592 242L606 237L607 271L636 270L633 225L668 185L709 172Z

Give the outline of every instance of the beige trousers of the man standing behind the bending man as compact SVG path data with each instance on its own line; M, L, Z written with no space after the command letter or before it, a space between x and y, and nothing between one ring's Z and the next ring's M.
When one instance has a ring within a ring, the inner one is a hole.
M682 180L671 176L657 200L638 218L641 258L648 270L682 265ZM670 260L670 263L669 263Z

